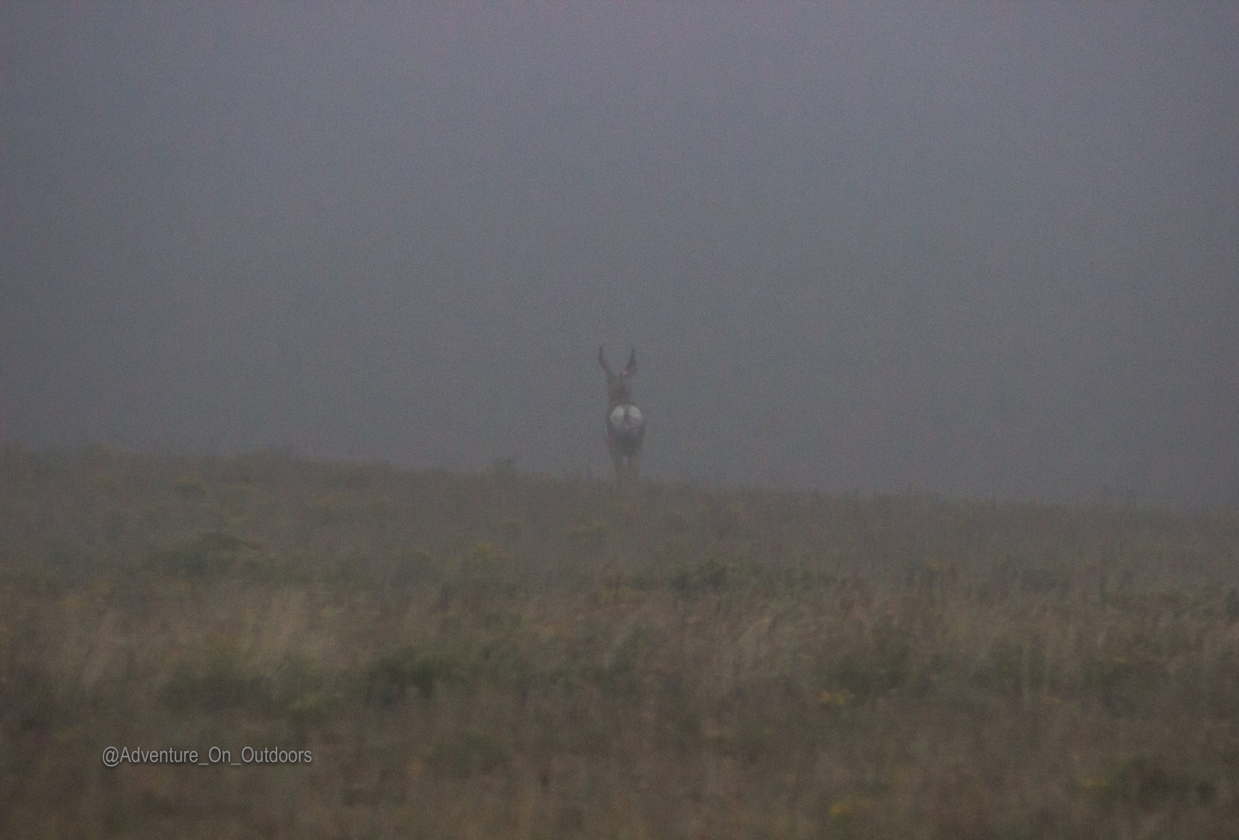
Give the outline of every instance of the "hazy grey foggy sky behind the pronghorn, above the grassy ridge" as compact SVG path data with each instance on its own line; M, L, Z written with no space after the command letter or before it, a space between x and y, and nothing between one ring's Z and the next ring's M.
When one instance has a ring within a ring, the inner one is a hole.
M0 421L1239 501L1233 4L0 9Z

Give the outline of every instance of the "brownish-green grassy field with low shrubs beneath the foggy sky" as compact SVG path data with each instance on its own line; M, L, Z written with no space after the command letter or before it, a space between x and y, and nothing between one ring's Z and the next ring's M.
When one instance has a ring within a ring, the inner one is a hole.
M1237 585L1234 510L10 447L0 836L1239 838Z

